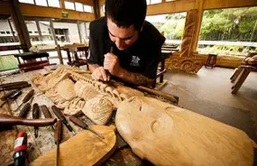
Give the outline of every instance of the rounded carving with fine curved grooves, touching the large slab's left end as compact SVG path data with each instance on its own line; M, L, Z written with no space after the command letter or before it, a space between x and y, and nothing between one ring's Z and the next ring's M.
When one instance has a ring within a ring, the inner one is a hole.
M96 124L107 124L113 114L113 104L106 97L88 100L82 112Z

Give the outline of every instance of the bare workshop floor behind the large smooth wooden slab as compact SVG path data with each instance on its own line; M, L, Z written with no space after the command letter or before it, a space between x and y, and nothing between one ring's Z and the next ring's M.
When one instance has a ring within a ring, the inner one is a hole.
M243 130L257 143L257 73L231 94L234 69L202 68L197 75L179 71L165 74L161 90L179 96L179 106Z

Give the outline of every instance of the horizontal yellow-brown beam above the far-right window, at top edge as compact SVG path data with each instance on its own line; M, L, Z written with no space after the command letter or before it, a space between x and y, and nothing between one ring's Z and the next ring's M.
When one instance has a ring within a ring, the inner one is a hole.
M257 6L257 0L205 0L203 9Z

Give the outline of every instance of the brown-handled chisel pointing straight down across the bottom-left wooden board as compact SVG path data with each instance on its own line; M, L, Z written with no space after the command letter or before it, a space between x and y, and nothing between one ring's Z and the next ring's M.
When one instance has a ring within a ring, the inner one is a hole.
M55 161L55 165L59 166L59 149L60 149L60 141L61 141L61 129L62 125L61 125L61 121L57 121L56 127L55 127L55 131L54 131L54 142L56 144L56 161Z

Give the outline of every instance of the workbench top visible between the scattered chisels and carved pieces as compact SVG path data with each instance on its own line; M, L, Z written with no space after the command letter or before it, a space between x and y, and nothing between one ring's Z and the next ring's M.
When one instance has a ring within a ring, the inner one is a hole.
M0 78L1 84L3 83L9 83L9 82L15 82L15 81L28 81L32 84L31 78L36 73L46 74L49 71L46 69L40 69L40 70L34 70L26 73L20 73L12 76L8 76L5 78ZM28 93L31 89L35 90L34 99L32 101L33 103L38 103L39 106L45 105L48 106L50 109L50 106L53 106L53 103L50 101L49 98L45 97L38 88L36 88L33 84L31 88L23 88L23 94L18 97L14 102L9 103L8 105L5 105L5 111L0 112L0 114L10 114L9 111L15 116L19 114L19 111L14 112L14 110L22 103L23 97ZM4 93L0 93L0 97L2 97ZM0 101L1 104L2 101ZM9 110L9 111L7 111ZM52 117L55 117L53 112L50 109L50 114ZM40 113L40 117L44 118L42 113ZM68 117L68 116L67 116ZM32 119L32 111L29 113L28 117ZM69 118L67 118L69 119ZM84 116L82 118L84 122L86 122L88 125L92 125L93 123ZM113 116L114 120L114 116ZM111 121L113 121L111 120ZM114 122L114 121L113 121ZM82 129L78 126L71 124L73 129L78 134L79 131ZM110 123L114 124L114 123ZM53 137L53 130L50 126L48 127L40 127L39 129L39 136L38 138L34 137L34 128L31 126L22 126L17 125L18 131L23 131L28 134L28 148L27 152L29 153L29 161L32 162L35 159L37 159L39 156L41 156L45 152L49 152L51 149L53 149L56 145L54 143L54 137ZM63 135L62 135L62 143L67 141L71 135L69 134L69 131L66 127L62 127L63 129ZM15 131L15 127L13 129L7 130L7 131L0 131L0 163L1 165L8 165L13 162L13 154L14 154L14 140L16 139L17 131ZM117 136L117 150L115 153L105 162L104 165L130 165L130 166L138 166L138 165L151 165L148 161L142 161L139 159L135 154L133 154L131 148L126 145L124 145L123 139L119 136L119 134L116 134Z

